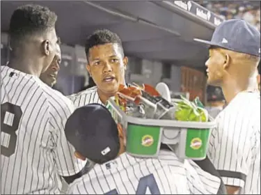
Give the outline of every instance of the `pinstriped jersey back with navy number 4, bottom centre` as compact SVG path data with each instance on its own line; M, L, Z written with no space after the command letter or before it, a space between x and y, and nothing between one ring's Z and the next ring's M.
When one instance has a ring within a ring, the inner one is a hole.
M161 150L159 158L136 158L127 153L74 180L68 194L216 194L220 179L194 162Z

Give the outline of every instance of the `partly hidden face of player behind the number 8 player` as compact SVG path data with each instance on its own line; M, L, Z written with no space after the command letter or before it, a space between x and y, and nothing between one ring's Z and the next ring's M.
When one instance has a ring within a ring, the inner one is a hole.
M60 44L60 39L58 38L58 44ZM54 56L54 59L47 68L45 72L42 72L40 75L40 79L50 87L53 87L56 84L56 78L58 75L58 71L60 70L60 63L61 63L61 49L58 48L58 54Z

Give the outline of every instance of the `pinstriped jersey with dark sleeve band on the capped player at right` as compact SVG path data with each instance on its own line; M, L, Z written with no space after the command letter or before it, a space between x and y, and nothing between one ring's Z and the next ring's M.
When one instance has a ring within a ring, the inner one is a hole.
M216 118L209 159L225 185L260 194L260 94L239 93Z

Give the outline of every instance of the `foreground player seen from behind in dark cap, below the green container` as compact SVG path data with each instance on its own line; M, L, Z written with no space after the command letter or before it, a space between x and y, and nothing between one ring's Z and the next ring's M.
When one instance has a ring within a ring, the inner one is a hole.
M88 174L72 182L68 194L218 192L219 178L191 160L178 159L171 150L161 150L158 158L137 158L125 153L125 132L101 104L76 109L65 125L65 135L77 157L96 163Z

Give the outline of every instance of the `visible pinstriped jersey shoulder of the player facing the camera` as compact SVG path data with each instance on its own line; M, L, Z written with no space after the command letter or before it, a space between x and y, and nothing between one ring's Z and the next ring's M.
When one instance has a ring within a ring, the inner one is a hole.
M83 107L87 104L93 103L102 104L97 92L97 86L69 95L68 98L72 100L75 107Z

